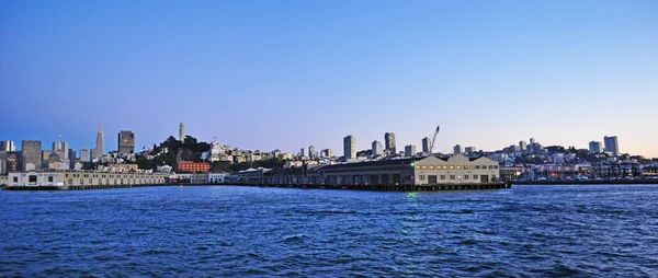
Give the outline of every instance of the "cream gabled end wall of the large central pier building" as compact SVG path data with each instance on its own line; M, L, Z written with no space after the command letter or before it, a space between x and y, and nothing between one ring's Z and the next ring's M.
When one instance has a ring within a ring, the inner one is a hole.
M415 184L474 184L498 181L500 170L498 162L489 158L470 161L457 154L447 161L429 157L417 161L415 166Z

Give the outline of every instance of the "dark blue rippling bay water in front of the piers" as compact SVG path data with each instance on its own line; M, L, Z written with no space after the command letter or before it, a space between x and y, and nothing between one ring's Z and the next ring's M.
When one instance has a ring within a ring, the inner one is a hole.
M0 276L658 276L658 186L0 192Z

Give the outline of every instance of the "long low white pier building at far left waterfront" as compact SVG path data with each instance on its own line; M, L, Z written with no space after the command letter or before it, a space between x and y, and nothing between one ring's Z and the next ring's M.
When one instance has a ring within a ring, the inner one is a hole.
M156 185L162 173L102 173L98 171L23 171L9 173L9 186Z

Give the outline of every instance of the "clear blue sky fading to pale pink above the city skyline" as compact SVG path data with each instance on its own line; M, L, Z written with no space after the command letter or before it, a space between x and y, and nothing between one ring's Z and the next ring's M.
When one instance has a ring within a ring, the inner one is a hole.
M0 1L0 140L658 158L658 1Z

